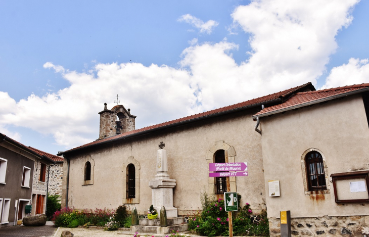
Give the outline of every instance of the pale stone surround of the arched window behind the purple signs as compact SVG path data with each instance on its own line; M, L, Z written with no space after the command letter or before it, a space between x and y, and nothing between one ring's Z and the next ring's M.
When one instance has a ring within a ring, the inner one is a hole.
M208 167L207 167L208 173L210 173L209 164L210 163L215 163L215 153L218 150L224 150L224 152L227 152L227 154L228 154L228 163L235 162L235 157L236 157L235 148L233 146L230 146L230 145L224 143L224 140L218 140L206 152L206 158L205 159L208 163ZM230 192L237 192L236 177L229 177L229 184L230 184ZM208 185L209 185L209 196L211 198L216 199L217 194L215 192L215 177L209 177Z

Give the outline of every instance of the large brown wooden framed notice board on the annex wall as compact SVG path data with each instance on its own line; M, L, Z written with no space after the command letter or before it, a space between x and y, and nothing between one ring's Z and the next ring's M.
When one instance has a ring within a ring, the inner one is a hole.
M369 202L369 170L331 174L336 203Z

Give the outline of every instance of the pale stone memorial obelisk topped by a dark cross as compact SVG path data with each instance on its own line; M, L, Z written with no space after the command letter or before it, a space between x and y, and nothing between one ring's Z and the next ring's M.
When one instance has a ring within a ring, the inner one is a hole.
M153 180L149 181L152 191L153 205L158 212L160 218L160 209L165 207L167 218L178 217L177 208L173 207L173 187L175 187L175 179L170 179L168 174L167 151L164 150L163 142L156 151L156 175Z

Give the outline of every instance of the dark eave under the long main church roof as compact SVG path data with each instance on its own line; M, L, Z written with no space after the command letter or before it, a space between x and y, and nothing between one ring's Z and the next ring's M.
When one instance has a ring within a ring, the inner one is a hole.
M94 147L98 147L98 146L103 146L103 145L106 145L106 144L109 144L109 143L114 143L115 141L119 141L119 140L123 140L123 139L127 139L127 138L132 138L132 137L135 137L135 136L141 136L141 135L144 135L144 134L149 134L151 132L164 130L164 129L168 129L168 128L172 128L172 127L176 127L176 126L181 126L181 125L184 125L184 124L201 121L201 120L208 119L208 118L213 118L213 117L217 117L217 116L221 116L221 115L225 115L225 114L230 114L230 113L235 113L235 112L239 112L239 111L243 111L243 110L256 108L256 107L259 107L261 105L268 105L268 104L278 103L278 102L281 102L281 101L282 101L282 99L278 98L278 99L274 99L274 100L270 100L270 101L266 101L266 102L260 102L260 103L256 103L256 104L253 104L253 105L244 106L244 107L233 109L233 110L227 110L227 111L223 111L223 112L219 112L219 113L215 113L215 114L202 116L202 117L199 117L199 118L194 118L194 119L190 119L190 120L186 120L186 121L182 121L182 122L168 124L168 125L153 128L153 129L150 129L150 130L145 130L145 131L142 131L142 132L137 132L137 133L129 134L129 135L126 135L126 136L118 137L116 139L103 141L102 143L90 145L90 146L87 146L87 147L81 147L81 148L78 148L78 149L75 149L75 150L58 153L58 156L65 155L65 154L70 154L70 153L74 153L74 152L77 152L77 151L90 149L90 148L94 148Z

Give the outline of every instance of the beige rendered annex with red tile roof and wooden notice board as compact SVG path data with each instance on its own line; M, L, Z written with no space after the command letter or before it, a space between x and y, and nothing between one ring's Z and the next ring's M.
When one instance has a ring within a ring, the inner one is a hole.
M369 227L369 83L298 92L253 118L262 131L265 190L270 180L280 186L280 196L266 195L271 236L279 235L284 210L294 235L362 236Z

